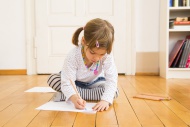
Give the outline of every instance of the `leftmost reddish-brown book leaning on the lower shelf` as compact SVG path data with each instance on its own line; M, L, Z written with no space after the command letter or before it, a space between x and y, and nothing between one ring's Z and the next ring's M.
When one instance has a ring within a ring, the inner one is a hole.
M174 59L176 58L176 56L177 56L177 54L178 54L179 50L181 49L184 42L185 42L184 40L178 40L176 42L174 48L172 49L172 51L169 55L169 67L171 67Z

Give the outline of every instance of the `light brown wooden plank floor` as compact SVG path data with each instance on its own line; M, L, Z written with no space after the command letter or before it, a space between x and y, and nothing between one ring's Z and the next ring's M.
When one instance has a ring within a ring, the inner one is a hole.
M39 111L53 93L25 93L47 86L47 75L0 76L0 127L189 127L190 79L119 76L120 96L96 114ZM135 99L138 93L169 95L170 101Z

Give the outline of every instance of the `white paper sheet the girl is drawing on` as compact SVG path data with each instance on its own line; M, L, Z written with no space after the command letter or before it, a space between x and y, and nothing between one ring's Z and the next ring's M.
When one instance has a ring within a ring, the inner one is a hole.
M86 103L86 109L79 110L74 107L74 104L71 102L54 102L49 101L40 107L36 108L37 110L53 110L53 111L71 111L71 112L84 112L84 113L96 113L96 111L92 110L92 107L96 105L96 103Z

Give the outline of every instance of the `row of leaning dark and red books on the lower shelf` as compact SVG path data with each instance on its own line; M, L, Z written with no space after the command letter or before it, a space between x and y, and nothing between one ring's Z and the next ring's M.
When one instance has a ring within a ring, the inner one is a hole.
M190 35L178 40L169 55L170 68L190 68Z

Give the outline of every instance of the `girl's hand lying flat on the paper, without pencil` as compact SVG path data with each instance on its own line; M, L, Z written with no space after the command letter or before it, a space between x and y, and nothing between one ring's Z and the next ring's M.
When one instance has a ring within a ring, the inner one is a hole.
M94 107L92 107L93 110L98 111L98 112L108 110L108 108L109 108L109 102L104 101L104 100L101 100Z

